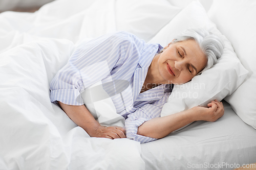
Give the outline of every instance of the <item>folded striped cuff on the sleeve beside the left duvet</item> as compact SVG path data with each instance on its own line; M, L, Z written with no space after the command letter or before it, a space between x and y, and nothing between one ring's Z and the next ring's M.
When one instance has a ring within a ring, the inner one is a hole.
M50 91L51 102L59 101L66 105L81 106L83 100L78 89L58 89Z

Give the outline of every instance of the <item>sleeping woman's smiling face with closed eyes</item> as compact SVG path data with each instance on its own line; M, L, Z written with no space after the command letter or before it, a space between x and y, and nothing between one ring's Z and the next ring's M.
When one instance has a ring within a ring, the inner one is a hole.
M170 43L158 59L160 76L167 84L183 84L195 77L207 63L195 40Z

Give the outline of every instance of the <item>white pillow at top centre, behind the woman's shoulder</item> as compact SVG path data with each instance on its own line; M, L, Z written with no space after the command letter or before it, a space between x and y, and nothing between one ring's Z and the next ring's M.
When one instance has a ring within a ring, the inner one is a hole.
M118 0L115 9L117 30L133 33L146 42L181 10L166 0Z

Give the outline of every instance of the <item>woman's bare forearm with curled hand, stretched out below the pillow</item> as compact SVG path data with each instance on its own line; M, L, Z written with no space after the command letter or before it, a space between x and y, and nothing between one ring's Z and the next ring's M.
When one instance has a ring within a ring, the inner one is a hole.
M159 139L196 120L215 122L224 114L222 102L212 101L208 107L197 106L180 113L150 119L138 127L137 134Z

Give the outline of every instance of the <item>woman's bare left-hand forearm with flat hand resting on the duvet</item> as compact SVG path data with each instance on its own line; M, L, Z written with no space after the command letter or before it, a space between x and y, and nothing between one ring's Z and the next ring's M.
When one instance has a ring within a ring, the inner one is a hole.
M91 137L105 137L110 139L125 138L125 130L122 127L103 127L95 120L86 106L66 105L58 101L63 111L73 122L83 128Z

